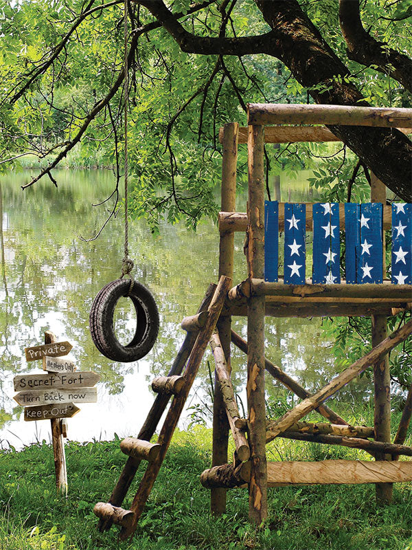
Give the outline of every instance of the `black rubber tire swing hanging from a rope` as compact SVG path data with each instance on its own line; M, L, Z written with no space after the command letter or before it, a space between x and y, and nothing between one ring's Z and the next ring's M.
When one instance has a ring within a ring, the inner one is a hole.
M159 311L152 293L130 279L108 283L95 297L90 310L89 326L95 347L113 361L130 363L143 358L152 349L159 333ZM137 325L135 336L123 346L115 336L113 314L119 298L129 297L135 306Z

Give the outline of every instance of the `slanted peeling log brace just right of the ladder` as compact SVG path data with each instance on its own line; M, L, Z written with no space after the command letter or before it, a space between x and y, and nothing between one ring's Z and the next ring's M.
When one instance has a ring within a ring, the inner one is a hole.
M236 404L235 393L233 391L230 373L227 369L225 360L225 353L223 352L222 344L217 331L214 331L211 335L210 347L214 355L216 375L220 385L223 403L225 404L227 419L231 428L233 441L235 442L236 454L240 461L247 461L249 460L249 456L251 454L249 444L247 443L244 431L236 427L236 420L240 420L242 417L240 416L238 405Z

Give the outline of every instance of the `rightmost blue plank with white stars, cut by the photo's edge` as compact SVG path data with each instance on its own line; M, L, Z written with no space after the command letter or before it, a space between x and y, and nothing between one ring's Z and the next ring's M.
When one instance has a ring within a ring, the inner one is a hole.
M392 204L392 283L412 284L412 204Z

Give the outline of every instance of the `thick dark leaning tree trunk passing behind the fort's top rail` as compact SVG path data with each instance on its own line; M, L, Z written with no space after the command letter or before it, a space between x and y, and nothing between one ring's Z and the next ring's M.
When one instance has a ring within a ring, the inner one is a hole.
M367 106L361 92L343 78L350 72L325 43L297 0L255 0L278 36L279 58L317 103ZM312 88L312 89L310 89ZM321 121L319 121L321 122ZM400 131L358 126L328 126L389 189L412 201L412 144Z

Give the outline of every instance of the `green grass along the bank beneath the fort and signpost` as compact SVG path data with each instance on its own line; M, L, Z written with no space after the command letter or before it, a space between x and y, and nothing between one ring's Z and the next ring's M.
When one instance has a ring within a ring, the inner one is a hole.
M231 489L227 514L211 518L209 492L199 483L211 456L211 432L202 427L175 434L135 537L119 542L117 527L99 533L93 514L126 460L119 440L69 441L66 454L67 500L56 495L49 445L0 454L0 550L412 550L410 484L396 485L387 507L376 505L374 485L269 489L269 517L257 530L247 522L247 492ZM355 454L278 439L268 446L268 459L279 456L314 460Z

